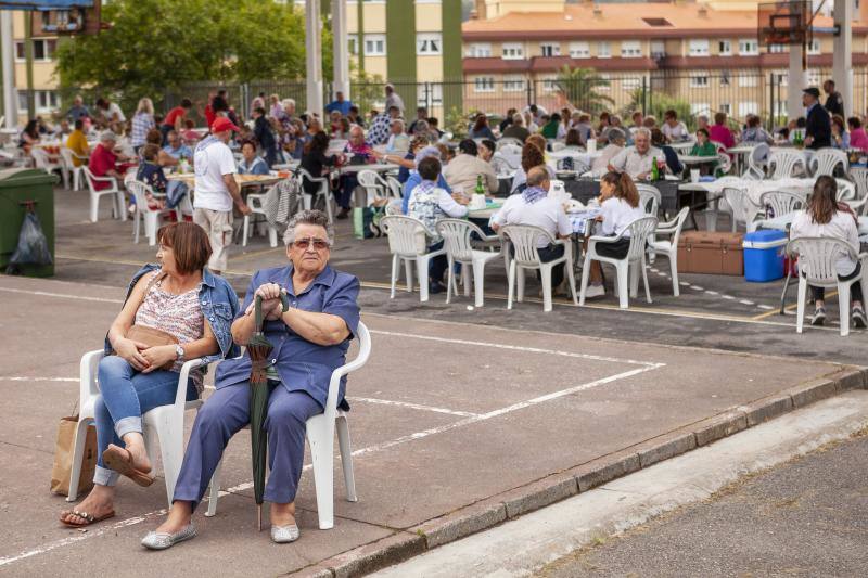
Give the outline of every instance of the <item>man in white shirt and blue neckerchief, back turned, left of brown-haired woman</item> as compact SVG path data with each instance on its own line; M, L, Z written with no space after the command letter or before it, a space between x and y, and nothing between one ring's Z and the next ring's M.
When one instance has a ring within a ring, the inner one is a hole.
M573 234L573 224L566 211L554 198L548 196L551 177L545 166L534 167L527 171L527 188L521 194L513 194L503 203L494 217L492 229L497 231L505 224L533 224L551 233L554 239L570 239ZM537 239L537 252L542 262L552 261L563 257L563 245L550 243L546 237ZM572 267L573 264L567 264ZM537 271L537 279L539 272ZM563 283L563 267L551 270L551 285L559 287ZM560 293L566 293L569 287L560 287Z

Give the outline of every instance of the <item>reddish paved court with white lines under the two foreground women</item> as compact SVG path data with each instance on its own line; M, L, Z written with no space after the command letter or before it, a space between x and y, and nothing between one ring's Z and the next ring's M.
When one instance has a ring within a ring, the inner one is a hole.
M192 560L196 574L221 576L370 571L865 385L861 370L818 361L369 314L373 355L348 386L359 502L343 500L336 472L335 528L317 529L306 472L302 539L278 547L255 531L241 433L218 515L196 517L194 541L150 553L138 542L159 523L162 480L122 483L118 518L88 532L60 527L66 504L47 492L78 359L100 346L123 290L0 278L0 487L16 528L0 571L11 576L173 575Z

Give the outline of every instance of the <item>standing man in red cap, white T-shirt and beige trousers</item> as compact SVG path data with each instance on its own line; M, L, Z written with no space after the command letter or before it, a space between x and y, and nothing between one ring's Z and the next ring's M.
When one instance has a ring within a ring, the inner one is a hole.
M195 196L193 222L202 227L210 239L212 256L208 268L215 274L226 271L228 248L232 243L232 203L243 215L251 208L241 197L235 182L235 159L228 143L232 131L239 128L220 116L210 126L210 136L196 145L193 155L195 167Z

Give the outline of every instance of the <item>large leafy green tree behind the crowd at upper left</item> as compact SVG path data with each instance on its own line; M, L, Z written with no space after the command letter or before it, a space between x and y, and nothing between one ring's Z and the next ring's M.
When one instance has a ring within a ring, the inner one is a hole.
M292 2L115 0L102 18L108 29L59 47L62 88L93 87L129 108L188 82L304 78L304 16ZM322 46L330 64L328 35Z

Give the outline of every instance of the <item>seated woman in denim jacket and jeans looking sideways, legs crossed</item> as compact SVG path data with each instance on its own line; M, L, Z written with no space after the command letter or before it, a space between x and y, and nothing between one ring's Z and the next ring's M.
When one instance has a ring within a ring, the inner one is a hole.
M230 332L238 297L226 280L205 269L212 254L205 231L178 222L163 227L157 239L159 265L145 265L132 278L105 338L106 357L99 367L102 395L94 407L99 446L94 487L74 510L61 513L66 526L88 526L114 516L119 475L140 486L154 481L142 415L175 401L184 361L201 360L184 384L190 401L202 394L209 362L238 355ZM168 333L178 344L149 347L132 341L127 333L133 324Z

